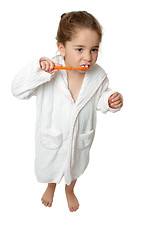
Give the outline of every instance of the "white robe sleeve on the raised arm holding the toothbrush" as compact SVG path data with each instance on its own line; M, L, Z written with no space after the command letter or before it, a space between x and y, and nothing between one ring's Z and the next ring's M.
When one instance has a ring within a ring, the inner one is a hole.
M43 71L39 61L40 59L32 61L15 76L11 86L13 96L19 99L29 99L36 96L40 85L51 80L53 74Z

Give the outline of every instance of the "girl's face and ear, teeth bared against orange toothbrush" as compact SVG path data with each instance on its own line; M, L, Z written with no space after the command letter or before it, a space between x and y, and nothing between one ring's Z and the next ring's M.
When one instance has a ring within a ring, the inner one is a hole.
M98 58L99 36L96 31L90 29L80 29L71 41L67 41L65 46L58 44L58 49L65 59L66 66L82 67L88 65L92 67ZM76 70L85 73L86 70Z

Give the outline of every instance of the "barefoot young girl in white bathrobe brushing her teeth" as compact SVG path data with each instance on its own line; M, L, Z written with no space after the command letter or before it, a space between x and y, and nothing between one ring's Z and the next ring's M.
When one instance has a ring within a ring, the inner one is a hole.
M101 26L91 14L63 14L56 37L61 56L33 61L12 83L15 97L37 99L35 174L39 182L48 183L41 199L48 207L64 176L69 210L78 209L74 186L89 162L96 110L116 112L122 107L120 94L108 88L107 75L96 64L101 38ZM56 70L56 65L89 69Z

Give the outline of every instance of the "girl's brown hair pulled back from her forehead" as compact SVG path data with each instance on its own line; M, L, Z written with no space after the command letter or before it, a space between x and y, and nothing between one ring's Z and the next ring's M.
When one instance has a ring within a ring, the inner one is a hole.
M74 11L62 14L57 31L57 42L61 42L65 46L66 41L71 41L73 34L77 32L77 28L95 30L101 42L102 27L97 19L86 11Z

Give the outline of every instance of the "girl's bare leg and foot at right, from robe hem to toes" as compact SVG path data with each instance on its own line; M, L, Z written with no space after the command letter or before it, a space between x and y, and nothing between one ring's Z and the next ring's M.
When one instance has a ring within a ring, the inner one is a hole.
M66 185L65 191L66 191L66 197L68 201L68 207L71 212L75 212L79 208L79 202L74 194L74 186L76 184L77 180L74 180L71 182L71 184L68 186Z

